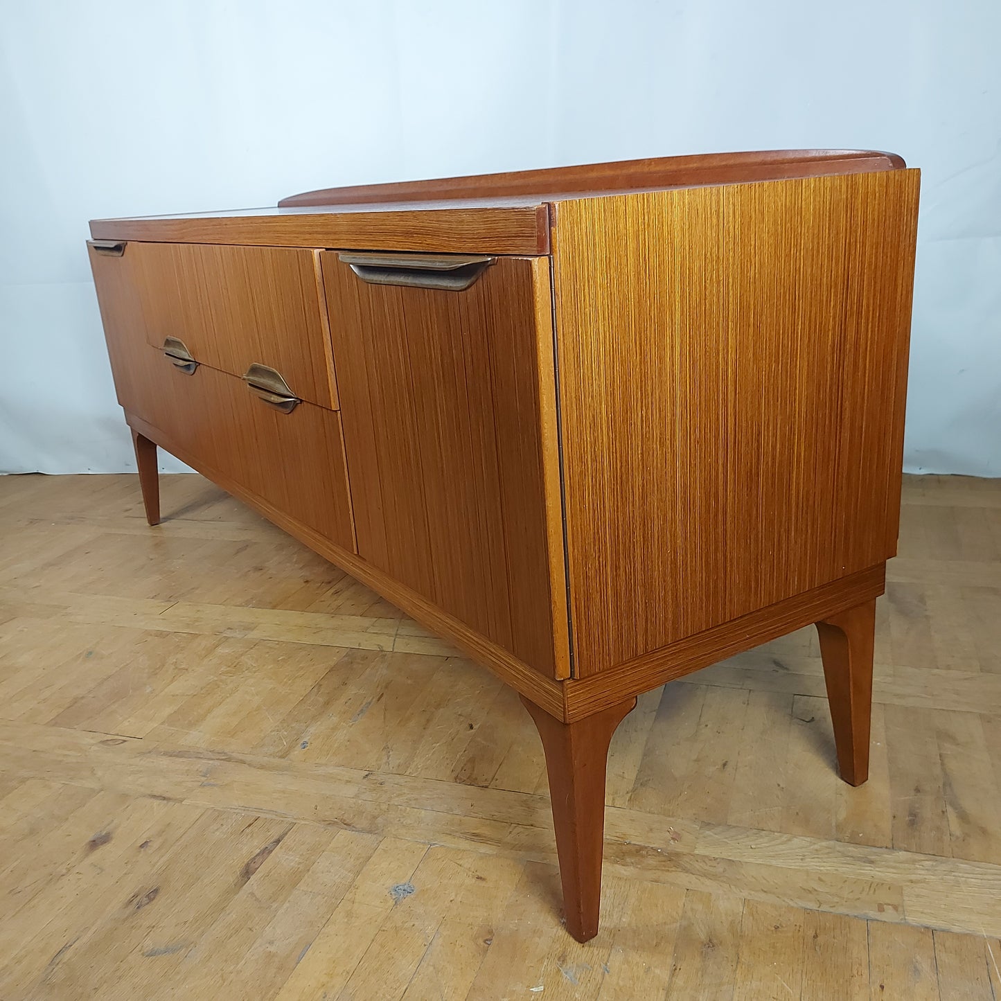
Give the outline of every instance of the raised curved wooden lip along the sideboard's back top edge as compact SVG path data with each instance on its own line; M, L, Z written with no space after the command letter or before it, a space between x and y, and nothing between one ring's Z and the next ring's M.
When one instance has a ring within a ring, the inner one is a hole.
M535 195L546 200L591 192L656 190L699 184L735 184L821 174L899 170L906 165L903 157L896 153L864 149L700 153L693 156L660 156L465 177L320 188L282 198L278 207L426 202L522 195Z

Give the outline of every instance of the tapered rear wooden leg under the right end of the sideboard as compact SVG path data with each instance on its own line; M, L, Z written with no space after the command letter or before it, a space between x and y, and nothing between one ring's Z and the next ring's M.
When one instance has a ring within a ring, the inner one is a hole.
M876 600L817 623L827 700L841 777L851 786L869 778Z

